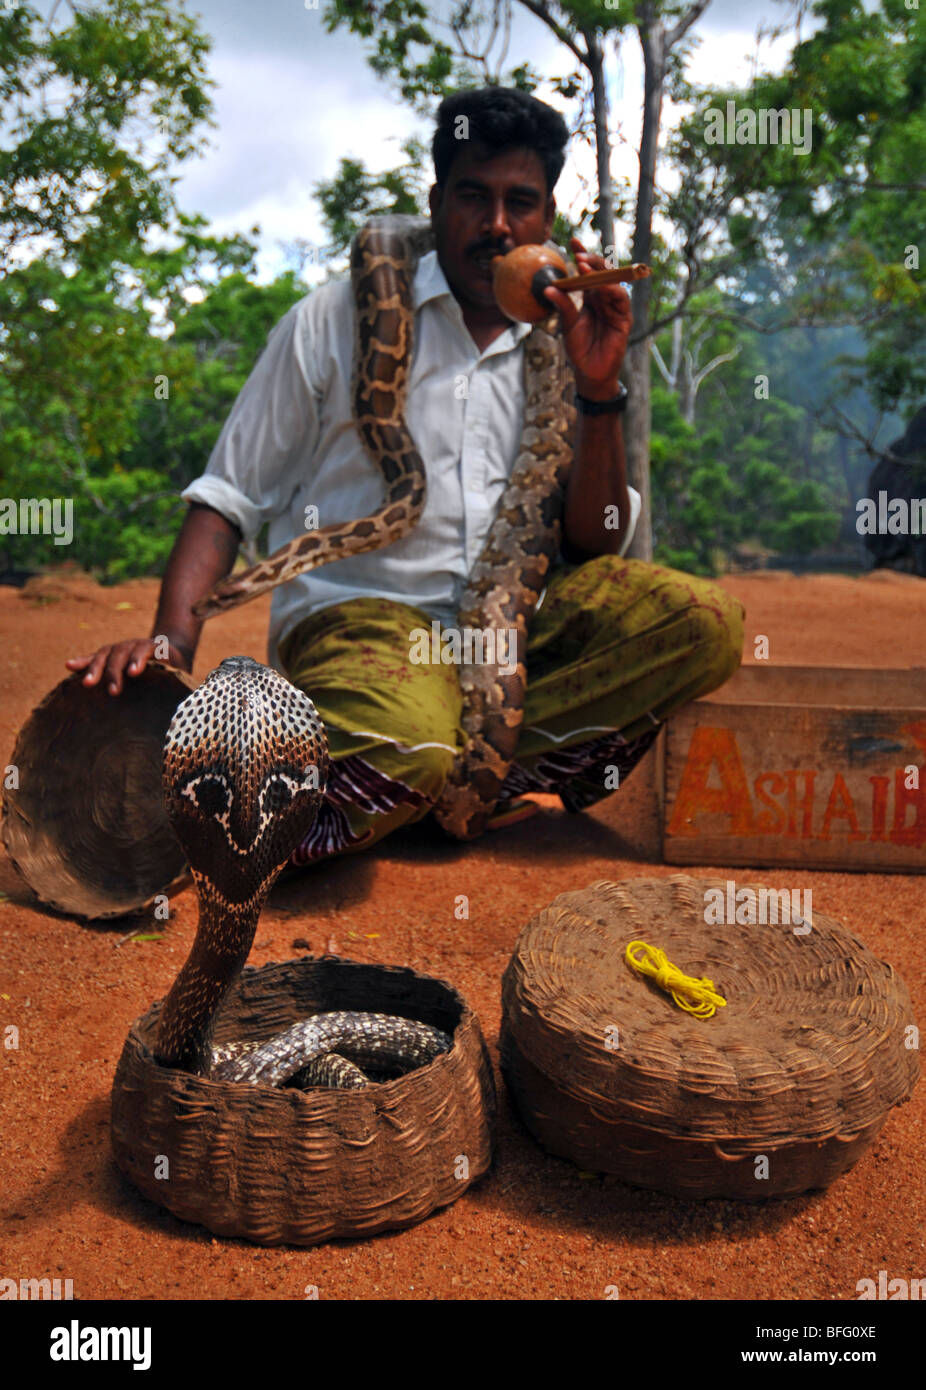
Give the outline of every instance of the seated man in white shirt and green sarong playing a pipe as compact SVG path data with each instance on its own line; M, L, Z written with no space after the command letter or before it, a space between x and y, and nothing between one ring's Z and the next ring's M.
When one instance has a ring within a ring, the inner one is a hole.
M435 250L414 278L406 407L427 471L423 517L385 549L289 581L271 607L270 660L314 701L334 759L296 862L371 845L421 819L463 745L457 670L413 660L412 634L430 632L435 619L455 624L519 450L530 328L499 310L491 259L549 239L566 142L560 117L514 89L457 93L439 108ZM580 274L603 265L577 239L571 249ZM581 307L555 289L546 297L562 316L577 420L563 555L528 628L524 720L496 824L512 819L506 808L526 791L555 791L570 810L608 795L670 714L731 676L742 648L742 609L720 588L623 557L640 512L620 414L627 292L601 286ZM186 670L202 627L190 607L231 571L242 538L268 521L274 550L304 534L309 506L328 525L381 503L382 478L350 414L353 317L348 281L289 310L206 473L184 492L190 509L154 632ZM117 695L153 646L152 638L117 642L68 666Z

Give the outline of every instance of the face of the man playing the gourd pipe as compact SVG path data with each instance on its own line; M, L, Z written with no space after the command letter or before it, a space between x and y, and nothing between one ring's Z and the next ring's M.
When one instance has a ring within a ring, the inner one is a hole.
M444 188L431 189L438 260L464 309L495 307L492 256L545 242L553 227L555 203L537 152L487 153L485 146L467 145Z

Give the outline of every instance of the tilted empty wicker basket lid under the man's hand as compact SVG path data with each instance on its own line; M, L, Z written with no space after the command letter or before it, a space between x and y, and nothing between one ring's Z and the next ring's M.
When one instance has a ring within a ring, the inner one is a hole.
M167 726L193 681L152 662L118 698L82 673L46 695L10 758L3 842L42 902L79 917L136 912L188 880L161 795Z

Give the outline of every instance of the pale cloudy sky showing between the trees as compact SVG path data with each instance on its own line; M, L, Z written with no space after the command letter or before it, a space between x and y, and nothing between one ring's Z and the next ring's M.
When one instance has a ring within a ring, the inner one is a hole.
M324 0L188 0L213 39L211 75L217 126L206 157L182 168L181 206L203 213L218 234L260 225L260 275L285 264L284 243L296 238L324 242L313 186L330 179L345 156L370 170L400 163L400 140L428 135L428 124L400 104L366 61L363 40L346 31L328 33ZM562 47L533 15L514 4L509 65L530 61L544 74L566 70ZM446 13L444 0L432 14ZM791 42L765 40L761 25L781 22L781 0L712 0L692 31L699 38L688 67L695 82L748 82L756 57L761 68L779 68ZM635 35L609 61L613 174L633 177L633 147L640 133L642 67ZM548 93L538 92L546 99ZM553 104L556 99L553 99ZM672 121L672 110L666 118ZM577 152L556 193L562 206L583 206L577 174L592 172ZM320 271L306 271L309 281Z

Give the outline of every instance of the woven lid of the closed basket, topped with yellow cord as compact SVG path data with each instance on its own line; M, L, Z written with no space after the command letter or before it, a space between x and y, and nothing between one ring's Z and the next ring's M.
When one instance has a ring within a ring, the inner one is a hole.
M744 887L772 901L765 885ZM685 874L560 894L507 966L509 1036L563 1094L666 1136L733 1150L845 1137L883 1119L918 1074L900 976L820 912L712 924L705 903L717 894L726 883ZM683 1012L627 965L634 940L712 980L727 1005L708 1020Z

